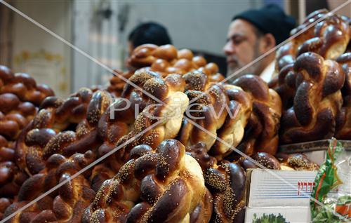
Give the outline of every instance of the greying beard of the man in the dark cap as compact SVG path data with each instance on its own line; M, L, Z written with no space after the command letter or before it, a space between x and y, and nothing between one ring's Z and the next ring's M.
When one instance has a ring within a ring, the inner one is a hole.
M260 56L260 53L258 52L258 47L255 46L254 52L253 52L253 60L258 58ZM232 82L235 79L238 79L240 76L243 76L245 74L256 74L258 71L258 68L260 67L260 61L253 63L253 65L250 65L249 67L246 67L245 69L241 69L242 67L245 67L247 64L244 62L240 62L237 60L237 57L235 55L231 56L231 60L234 60L234 63L232 65L227 66L227 77L230 76L230 79L228 79L228 82ZM259 75L259 74L256 74Z

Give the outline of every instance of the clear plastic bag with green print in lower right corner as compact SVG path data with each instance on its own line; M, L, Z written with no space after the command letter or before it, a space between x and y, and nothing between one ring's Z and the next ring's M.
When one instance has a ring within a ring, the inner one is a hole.
M336 139L314 181L312 198L311 222L351 222L351 156Z

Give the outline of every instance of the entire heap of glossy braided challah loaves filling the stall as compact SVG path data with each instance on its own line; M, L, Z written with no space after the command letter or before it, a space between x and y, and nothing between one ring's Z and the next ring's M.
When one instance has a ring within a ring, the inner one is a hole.
M324 32L339 28L348 43L349 24L336 15L311 35L330 45L325 36L331 34ZM347 43L337 44L341 53ZM328 115L335 114L332 135L347 133L350 124L350 55L335 62L319 55L314 43L303 44L281 48L279 81L271 83L277 91L253 75L221 83L216 65L169 45L135 48L135 72L114 77L108 90L81 88L65 100L0 67L0 217L32 223L244 222L247 168L318 168L303 154L277 154L279 129L288 143L309 139L310 126ZM284 74L296 85L288 85ZM18 128L10 131L4 123ZM61 187L44 194L56 185Z

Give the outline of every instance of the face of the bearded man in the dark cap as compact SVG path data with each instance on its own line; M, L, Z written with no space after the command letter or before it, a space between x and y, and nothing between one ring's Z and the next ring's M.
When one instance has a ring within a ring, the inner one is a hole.
M255 27L246 20L234 20L229 27L227 43L223 50L227 55L227 76L255 60L260 55L258 37ZM241 74L256 74L258 64L240 72ZM240 74L238 74L240 76ZM258 74L256 74L258 75ZM237 76L237 75L236 75Z

